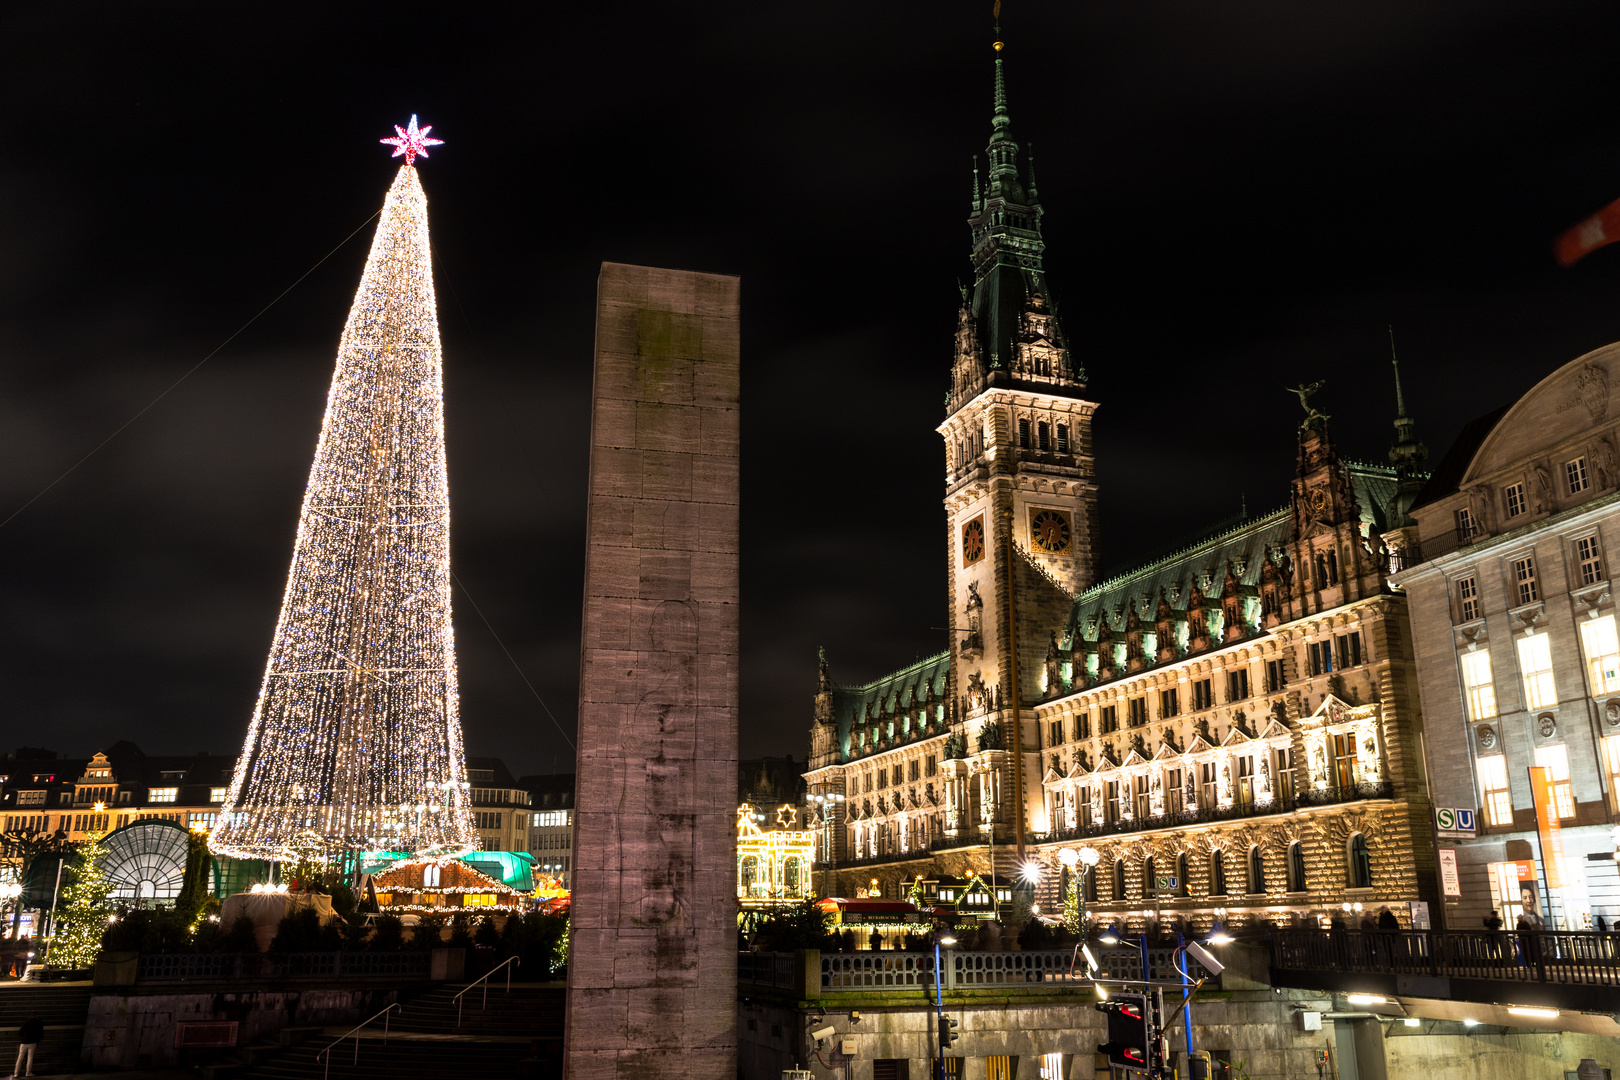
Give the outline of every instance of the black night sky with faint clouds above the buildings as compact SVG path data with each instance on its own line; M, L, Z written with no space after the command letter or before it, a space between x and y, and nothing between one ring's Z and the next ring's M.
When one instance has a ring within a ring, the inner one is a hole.
M340 8L340 11L334 11ZM1620 8L1008 0L1092 376L1105 567L1280 505L1298 403L1435 458L1620 338ZM572 733L596 269L742 275L744 755L943 648L943 419L990 0L8 5L0 517L381 206L420 113L455 572ZM0 528L0 745L235 753L371 230ZM471 755L572 750L457 594Z

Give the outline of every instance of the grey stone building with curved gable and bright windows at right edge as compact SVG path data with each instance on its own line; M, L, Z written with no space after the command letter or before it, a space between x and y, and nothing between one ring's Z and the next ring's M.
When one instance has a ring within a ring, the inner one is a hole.
M1434 801L1476 811L1455 848L1453 926L1534 904L1580 929L1620 916L1620 345L1463 429L1413 510L1411 602ZM1562 865L1547 865L1529 769L1549 769ZM1554 882L1549 878L1549 870ZM1550 886L1550 889L1549 889Z

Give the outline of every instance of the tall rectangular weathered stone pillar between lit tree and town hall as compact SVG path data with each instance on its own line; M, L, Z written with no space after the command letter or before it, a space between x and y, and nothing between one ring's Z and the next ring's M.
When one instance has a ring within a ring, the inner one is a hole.
M739 288L596 287L569 1080L737 1074Z

